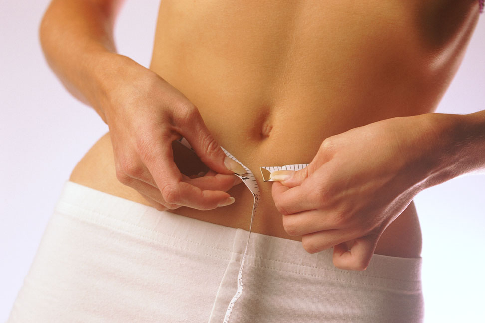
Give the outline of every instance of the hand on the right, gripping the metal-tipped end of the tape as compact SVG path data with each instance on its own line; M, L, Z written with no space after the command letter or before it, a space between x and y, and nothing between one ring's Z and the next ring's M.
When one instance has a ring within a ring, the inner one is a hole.
M302 236L309 253L334 247L338 268L365 270L383 231L430 178L439 137L431 115L328 137L306 168L273 172L272 195L285 231Z

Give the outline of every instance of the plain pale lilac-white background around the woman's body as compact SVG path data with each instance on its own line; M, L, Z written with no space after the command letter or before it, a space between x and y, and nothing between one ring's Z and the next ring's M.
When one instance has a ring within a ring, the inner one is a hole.
M159 0L127 1L118 50L144 66ZM0 0L0 321L33 260L64 182L108 127L49 70L38 42L47 0ZM485 14L438 111L485 109ZM485 126L485 125L484 125ZM423 230L425 319L485 322L485 176L470 175L416 198Z

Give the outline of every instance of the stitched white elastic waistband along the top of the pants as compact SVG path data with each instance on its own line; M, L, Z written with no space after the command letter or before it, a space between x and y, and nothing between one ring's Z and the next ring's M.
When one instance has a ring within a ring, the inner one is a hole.
M154 243L230 258L244 252L248 231L204 222L136 203L66 181L56 210ZM210 212L210 211L209 211ZM259 214L259 216L264 216ZM252 233L248 264L351 283L416 290L421 288L421 258L374 255L364 272L333 266L332 250L307 253L299 241Z

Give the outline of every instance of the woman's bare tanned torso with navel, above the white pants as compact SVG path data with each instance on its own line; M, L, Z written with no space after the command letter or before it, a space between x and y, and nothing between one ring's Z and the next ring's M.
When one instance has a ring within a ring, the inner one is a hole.
M432 112L477 21L475 2L162 1L150 69L193 102L219 144L255 173L262 202L253 231L301 240L284 231L259 166L309 163L326 137ZM150 205L118 182L109 134L70 180ZM233 205L172 212L248 230L251 193L243 185L229 193ZM419 257L413 203L376 253Z

